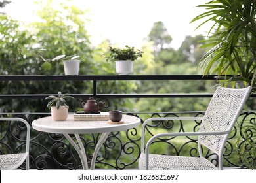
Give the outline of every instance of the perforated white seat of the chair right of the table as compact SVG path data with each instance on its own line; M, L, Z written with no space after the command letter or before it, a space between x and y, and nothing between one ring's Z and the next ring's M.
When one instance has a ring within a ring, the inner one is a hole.
M140 154L139 169L145 169L145 154ZM172 162L172 163L170 163ZM154 170L217 170L217 167L205 158L168 156L159 154L149 155L148 169Z

